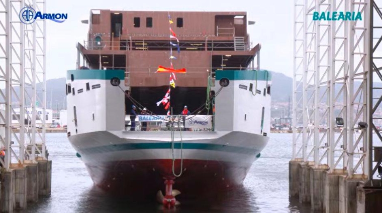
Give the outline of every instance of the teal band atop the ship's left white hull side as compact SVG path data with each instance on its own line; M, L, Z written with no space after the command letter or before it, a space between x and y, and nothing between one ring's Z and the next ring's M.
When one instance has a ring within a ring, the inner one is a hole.
M121 81L125 80L125 71L123 70L68 70L66 72L66 79L71 80L71 75L73 75L74 80L110 80L115 77Z

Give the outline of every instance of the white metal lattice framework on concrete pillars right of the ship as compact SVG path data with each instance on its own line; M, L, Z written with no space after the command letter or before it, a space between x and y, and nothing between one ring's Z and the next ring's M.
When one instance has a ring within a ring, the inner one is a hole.
M362 20L313 20L348 11ZM367 178L370 0L296 0L294 25L293 159Z

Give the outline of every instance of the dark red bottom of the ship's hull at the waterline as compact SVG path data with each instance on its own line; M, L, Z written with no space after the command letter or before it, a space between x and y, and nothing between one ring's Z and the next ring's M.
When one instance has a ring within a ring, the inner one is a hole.
M174 179L173 189L179 196L197 197L216 194L240 185L250 164L221 161L183 160L182 174ZM172 160L118 161L86 167L94 183L115 195L153 197L158 190L164 194L164 178L173 178ZM180 172L180 160L175 161L175 174ZM177 196L178 198L178 196Z

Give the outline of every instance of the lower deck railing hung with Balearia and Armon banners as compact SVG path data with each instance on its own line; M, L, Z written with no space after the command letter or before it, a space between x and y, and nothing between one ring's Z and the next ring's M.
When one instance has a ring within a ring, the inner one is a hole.
M139 115L134 131L213 131L213 122L213 115ZM131 123L126 115L126 131L131 131Z

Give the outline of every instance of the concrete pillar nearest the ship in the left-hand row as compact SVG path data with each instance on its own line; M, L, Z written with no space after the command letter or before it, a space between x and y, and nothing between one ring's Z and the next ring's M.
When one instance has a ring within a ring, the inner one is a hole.
M39 180L39 195L48 195L51 192L52 181L52 161L38 161L38 180Z

